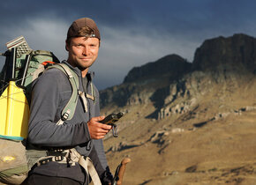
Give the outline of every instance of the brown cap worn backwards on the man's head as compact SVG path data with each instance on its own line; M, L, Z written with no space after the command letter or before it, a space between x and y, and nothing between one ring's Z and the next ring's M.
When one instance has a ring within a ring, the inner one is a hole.
M94 32L91 35L80 35L79 30L85 26L90 27ZM95 37L101 40L101 34L99 32L99 29L92 18L79 18L74 22L72 22L72 25L70 26L67 33L67 39L71 37L82 37L82 36Z

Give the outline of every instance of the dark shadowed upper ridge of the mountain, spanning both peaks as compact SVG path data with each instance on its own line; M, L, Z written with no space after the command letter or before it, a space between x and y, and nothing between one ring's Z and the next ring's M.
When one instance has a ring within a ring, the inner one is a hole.
M248 38L252 41L247 41ZM233 47L235 52L222 54L222 50L232 49L230 42L233 40L235 40L235 43L242 43L242 45ZM225 45L223 42L227 42L228 44ZM251 44L253 46L252 49L248 49L250 50L249 54L244 55L243 52L237 53L237 48L246 48L245 43L248 42L250 44L253 43L253 45ZM210 46L213 48L210 48ZM208 50L213 51L213 54L211 52L209 53ZM249 62L243 63L245 58L249 58L249 56L252 56L248 60ZM229 57L235 60L233 61ZM227 58L228 60L225 60ZM161 66L163 69L162 72ZM101 91L101 107L124 107L128 104L144 103L151 96L154 100L158 93L160 95L163 93L165 96L169 88L168 85L172 82L179 84L176 88L184 88L182 87L182 81L186 80L182 80L182 78L187 78L188 76L196 78L197 75L203 73L209 73L214 78L213 80L222 80L222 78L227 78L227 76L237 77L243 74L256 74L256 39L245 34L234 34L234 36L227 38L218 37L204 41L200 48L196 49L192 63L188 63L179 55L166 55L156 62L134 67L124 78L123 84L115 85ZM219 76L222 78L219 78ZM147 90L147 93L145 93L145 90Z

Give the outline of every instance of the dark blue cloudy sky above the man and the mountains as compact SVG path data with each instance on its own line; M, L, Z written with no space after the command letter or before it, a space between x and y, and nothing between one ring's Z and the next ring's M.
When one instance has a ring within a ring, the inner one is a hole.
M64 41L77 18L93 18L102 36L90 68L99 90L119 85L133 67L177 54L192 62L203 41L245 33L256 37L253 0L11 0L0 5L0 52L23 35L30 48L67 58ZM0 68L4 56L0 56Z

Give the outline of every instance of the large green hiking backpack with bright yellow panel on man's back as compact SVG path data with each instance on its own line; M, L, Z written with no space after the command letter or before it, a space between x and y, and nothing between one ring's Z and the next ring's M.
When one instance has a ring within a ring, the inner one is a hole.
M4 53L6 60L0 73L0 107L7 111L1 110L0 112L6 115L8 115L8 111L14 112L15 116L11 115L11 121L9 122L0 121L0 182L20 184L26 179L27 173L34 163L46 155L45 151L26 151L28 105L32 82L44 70L49 68L62 70L69 78L72 85L72 97L62 111L62 119L57 123L62 124L64 120L72 119L74 114L79 94L79 79L75 72L69 70L68 66L59 63L52 52L30 49L23 37L8 42L7 48L8 44L12 47ZM10 101L12 102L10 103ZM14 106L17 105L19 108L10 111L8 103ZM0 115L2 116L1 120L4 120L3 117L6 115ZM16 118L18 119L17 122Z

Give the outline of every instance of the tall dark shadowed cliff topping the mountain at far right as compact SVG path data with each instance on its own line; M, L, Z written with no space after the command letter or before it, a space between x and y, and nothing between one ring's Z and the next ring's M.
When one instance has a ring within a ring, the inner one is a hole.
M256 39L245 34L204 41L195 52L194 70L228 70L245 68L256 73ZM239 69L241 70L241 69Z

